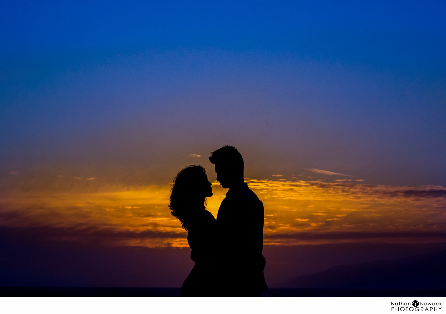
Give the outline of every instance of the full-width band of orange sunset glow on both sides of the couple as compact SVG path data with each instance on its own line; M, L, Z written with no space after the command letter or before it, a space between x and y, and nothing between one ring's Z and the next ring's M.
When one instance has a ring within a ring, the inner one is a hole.
M446 239L446 188L442 186L246 181L264 202L266 245ZM170 187L101 193L11 192L0 198L4 217L0 225L40 230L43 236L59 240L187 247L186 231L167 207ZM227 190L218 182L212 188L207 209L216 216Z

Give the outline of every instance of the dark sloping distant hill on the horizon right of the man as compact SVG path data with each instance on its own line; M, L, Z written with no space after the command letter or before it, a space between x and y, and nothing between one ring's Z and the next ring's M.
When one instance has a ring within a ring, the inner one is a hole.
M296 277L284 288L445 289L446 251L335 266L321 273Z

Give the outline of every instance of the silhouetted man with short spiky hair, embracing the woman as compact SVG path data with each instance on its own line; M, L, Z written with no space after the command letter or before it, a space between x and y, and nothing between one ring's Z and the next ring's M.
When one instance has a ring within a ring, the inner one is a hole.
M221 296L260 297L268 291L263 270L263 203L244 182L242 155L233 146L223 146L209 156L217 180L229 188L217 215L222 275Z

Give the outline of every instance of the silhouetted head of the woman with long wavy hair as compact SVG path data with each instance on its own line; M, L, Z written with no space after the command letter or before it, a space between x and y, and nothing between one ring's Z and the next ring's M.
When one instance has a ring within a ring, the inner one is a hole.
M200 165L190 165L173 178L169 208L182 227L187 230L187 220L205 207L206 197L212 196L211 182Z

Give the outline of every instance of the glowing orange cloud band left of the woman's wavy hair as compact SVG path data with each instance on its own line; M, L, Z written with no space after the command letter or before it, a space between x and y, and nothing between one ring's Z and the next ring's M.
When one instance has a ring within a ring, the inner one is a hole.
M167 207L169 192L170 186L149 186L108 193L47 192L37 197L33 192L20 193L11 200L0 198L0 229L27 230L31 238L46 229L54 231L54 239L60 233L61 240L83 242L95 237L113 245L187 247L187 233Z

